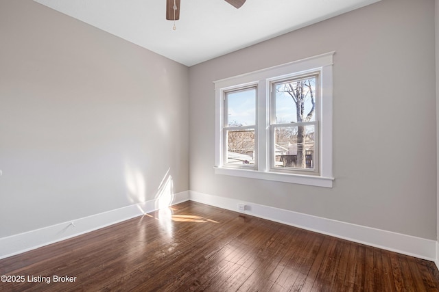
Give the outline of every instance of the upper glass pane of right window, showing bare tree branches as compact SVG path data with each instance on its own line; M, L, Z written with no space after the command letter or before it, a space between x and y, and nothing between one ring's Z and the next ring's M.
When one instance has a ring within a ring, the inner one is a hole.
M316 76L275 83L274 88L276 124L316 120Z

